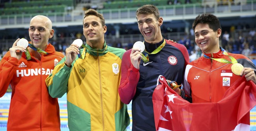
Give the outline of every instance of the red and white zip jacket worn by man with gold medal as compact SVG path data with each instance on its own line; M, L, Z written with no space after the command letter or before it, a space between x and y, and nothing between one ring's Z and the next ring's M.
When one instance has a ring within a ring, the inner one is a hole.
M223 54L225 50L222 48L221 50L213 53L213 58L230 60L227 55ZM211 56L211 54L204 55ZM234 57L244 67L250 67L256 72L255 65L246 56L231 53L228 55ZM220 101L227 89L241 77L231 71L231 66L232 64L218 62L204 56L194 60L187 65L185 70L183 86L185 94L192 97L193 103Z

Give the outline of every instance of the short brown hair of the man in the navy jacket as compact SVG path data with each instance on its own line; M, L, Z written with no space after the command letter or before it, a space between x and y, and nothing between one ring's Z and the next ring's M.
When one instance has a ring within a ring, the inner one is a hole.
M139 14L144 14L144 15L154 14L154 16L156 17L157 20L160 18L159 10L154 5L143 5L142 7L138 8L138 10L136 12L136 17Z

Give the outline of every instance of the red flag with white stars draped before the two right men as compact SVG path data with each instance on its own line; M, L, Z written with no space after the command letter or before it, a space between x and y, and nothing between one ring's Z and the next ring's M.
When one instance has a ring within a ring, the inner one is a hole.
M152 96L156 131L249 131L255 96L256 85L243 76L219 102L189 103L159 76Z

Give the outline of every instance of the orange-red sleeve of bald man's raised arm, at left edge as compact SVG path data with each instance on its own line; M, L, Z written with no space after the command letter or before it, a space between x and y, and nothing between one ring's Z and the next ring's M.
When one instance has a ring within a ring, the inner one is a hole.
M10 81L13 77L13 68L18 66L19 60L11 57L10 52L7 52L0 62L0 97L2 97L8 89Z

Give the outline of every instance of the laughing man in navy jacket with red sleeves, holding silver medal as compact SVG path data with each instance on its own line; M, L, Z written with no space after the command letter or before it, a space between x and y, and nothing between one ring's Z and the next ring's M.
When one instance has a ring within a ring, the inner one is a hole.
M136 16L145 51L133 48L123 55L118 92L125 104L132 100L132 130L154 131L152 94L157 78L163 75L182 84L189 53L184 45L163 38L160 29L163 18L156 6L144 5L138 8Z

